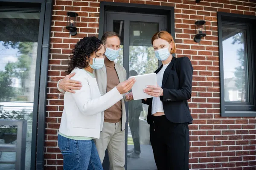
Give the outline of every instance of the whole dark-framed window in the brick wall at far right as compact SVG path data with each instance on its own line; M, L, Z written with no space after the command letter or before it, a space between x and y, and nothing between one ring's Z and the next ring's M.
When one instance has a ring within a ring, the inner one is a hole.
M221 116L256 116L255 16L218 12Z

